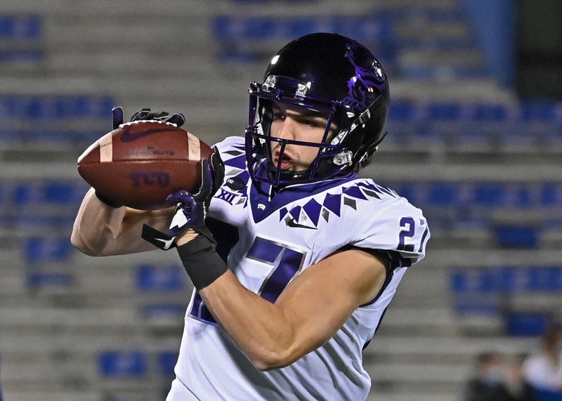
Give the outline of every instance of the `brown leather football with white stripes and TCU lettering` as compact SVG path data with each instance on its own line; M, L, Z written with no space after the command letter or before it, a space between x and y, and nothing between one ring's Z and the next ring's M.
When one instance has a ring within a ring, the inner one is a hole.
M78 158L78 173L110 201L134 209L172 206L178 190L197 192L201 160L213 150L178 126L156 120L133 121L106 133Z

